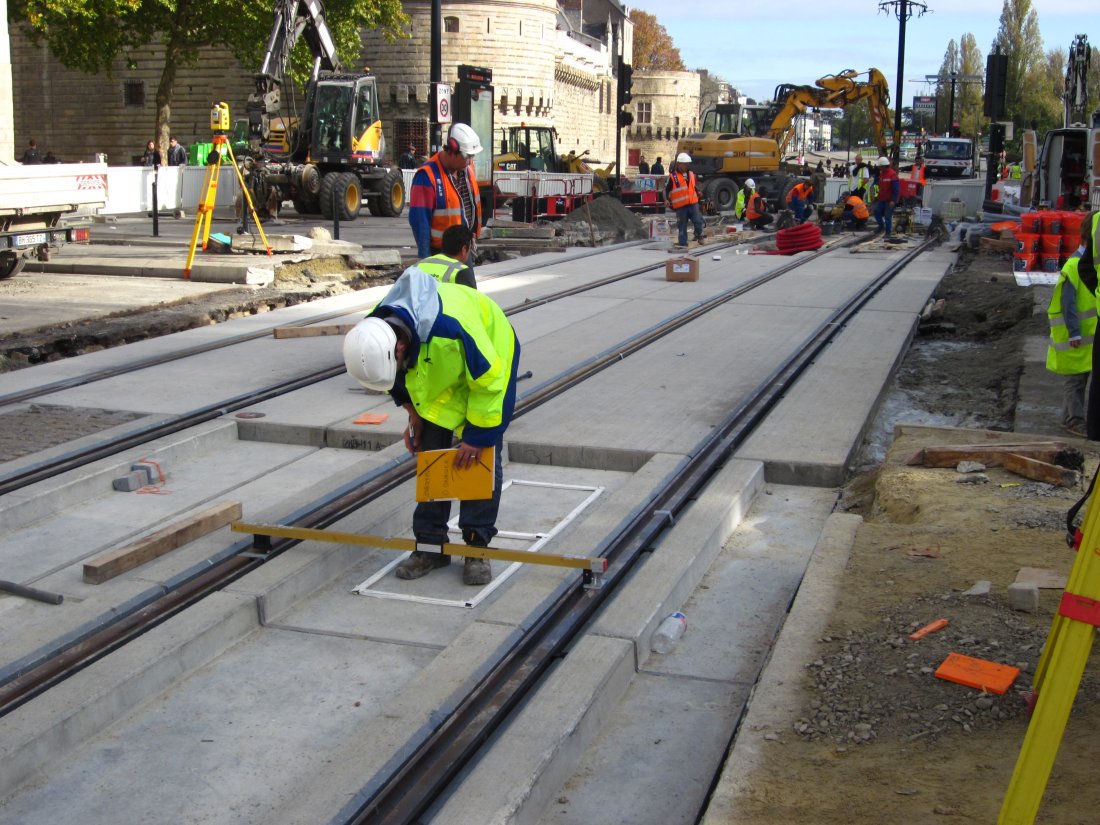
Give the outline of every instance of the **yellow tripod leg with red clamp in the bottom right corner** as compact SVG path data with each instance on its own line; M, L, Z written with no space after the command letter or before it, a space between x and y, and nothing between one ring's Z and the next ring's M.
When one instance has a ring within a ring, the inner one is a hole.
M1035 822L1100 625L1100 501L1093 498L1089 496L1077 559L1035 670L1035 711L1001 804L998 825Z

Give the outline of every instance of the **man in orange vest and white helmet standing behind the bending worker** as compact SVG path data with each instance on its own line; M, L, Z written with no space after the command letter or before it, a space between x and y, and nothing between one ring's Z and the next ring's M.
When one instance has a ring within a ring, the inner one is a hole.
M443 232L455 224L466 227L472 244L476 243L482 226L481 193L471 158L481 151L477 133L465 123L455 123L443 147L413 176L409 226L417 257L442 251Z

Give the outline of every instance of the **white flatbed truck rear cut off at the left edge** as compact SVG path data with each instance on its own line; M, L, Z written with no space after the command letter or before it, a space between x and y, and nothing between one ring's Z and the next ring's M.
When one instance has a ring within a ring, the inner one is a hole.
M87 243L107 202L106 163L0 165L0 279L65 243Z

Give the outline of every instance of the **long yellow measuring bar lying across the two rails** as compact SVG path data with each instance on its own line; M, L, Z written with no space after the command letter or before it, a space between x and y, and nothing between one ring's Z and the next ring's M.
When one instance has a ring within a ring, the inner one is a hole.
M287 525L254 525L248 521L234 521L231 528L234 532L249 532L254 537L276 537L280 539L298 539L299 541L331 541L337 544L359 544L360 547L377 547L385 550L419 550L420 552L442 553L443 556L466 556L475 559L496 559L497 561L518 561L522 564L547 564L554 568L575 568L597 576L607 572L607 559L595 556L558 556L556 553L525 552L524 550L506 550L499 547L470 547L469 544L424 544L415 539L395 539L385 536L363 536L358 532L340 532L338 530L318 530L312 527L289 527ZM263 543L257 543L262 547Z

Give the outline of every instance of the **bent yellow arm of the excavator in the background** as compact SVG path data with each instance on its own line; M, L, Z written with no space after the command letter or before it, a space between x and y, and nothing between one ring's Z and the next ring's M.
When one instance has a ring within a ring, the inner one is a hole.
M856 78L867 75L866 81ZM794 119L807 109L844 109L860 100L867 100L871 109L871 125L875 130L875 145L880 154L886 154L886 123L889 119L890 87L886 76L877 68L867 72L847 69L838 75L826 75L815 86L780 86L776 100L781 103L772 119L768 136L779 144L779 156L783 156L787 144L794 134Z

